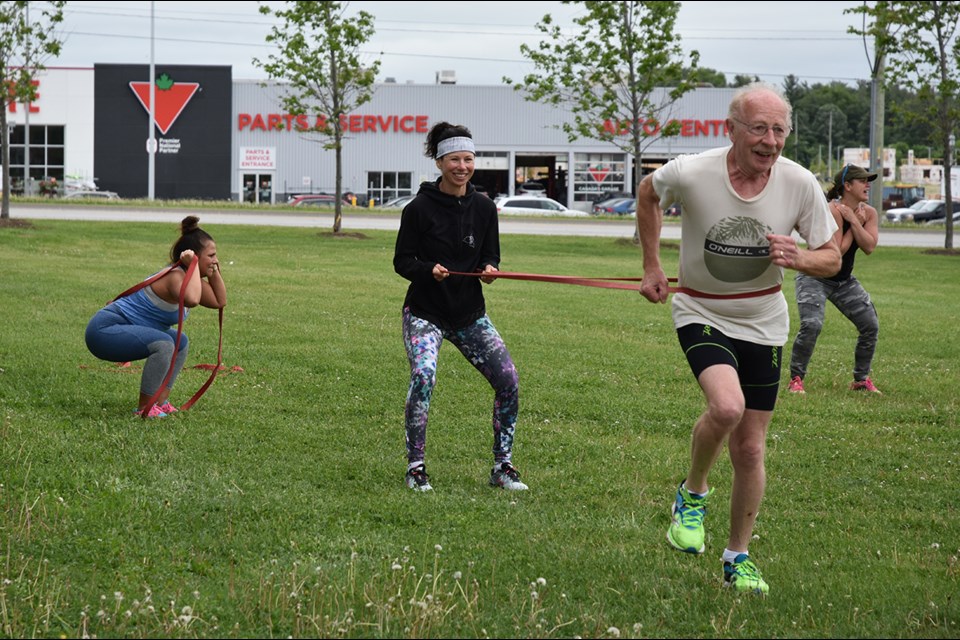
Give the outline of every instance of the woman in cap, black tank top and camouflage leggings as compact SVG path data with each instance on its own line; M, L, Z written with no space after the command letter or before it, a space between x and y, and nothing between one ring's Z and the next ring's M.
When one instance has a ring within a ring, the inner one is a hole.
M830 278L813 278L797 273L800 330L790 355L788 387L793 393L804 393L803 380L807 375L807 366L817 344L817 337L823 328L827 300L832 302L859 332L850 388L854 391L880 393L870 379L870 365L880 331L877 310L870 300L870 294L853 275L853 261L857 249L869 255L877 247L877 210L867 204L870 183L876 179L876 173L848 164L837 173L833 179L833 187L827 192L830 211L840 226L836 240L840 245L843 261L840 271Z

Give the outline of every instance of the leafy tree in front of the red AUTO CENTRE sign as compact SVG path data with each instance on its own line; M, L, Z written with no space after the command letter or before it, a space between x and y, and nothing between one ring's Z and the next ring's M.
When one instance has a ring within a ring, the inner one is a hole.
M654 136L679 132L679 124L669 122L670 108L695 87L700 54L693 51L685 69L674 35L680 3L563 4L583 5L583 15L574 19L581 30L564 35L545 15L537 29L547 38L536 49L520 46L536 71L520 83L504 82L527 100L567 107L572 121L559 127L571 142L593 138L631 153L639 180L643 150Z

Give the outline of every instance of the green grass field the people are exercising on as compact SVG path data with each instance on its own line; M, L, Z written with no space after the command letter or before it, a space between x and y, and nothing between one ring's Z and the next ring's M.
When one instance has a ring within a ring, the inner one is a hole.
M131 414L140 363L96 360L83 331L162 266L175 231L0 228L0 635L960 635L956 256L859 258L883 395L847 390L856 336L833 308L806 396L781 389L751 545L771 585L758 598L720 586L725 457L706 553L664 539L702 410L668 306L486 287L520 372L514 462L531 490L487 486L492 394L447 345L427 441L434 491L413 494L393 234L208 228L229 287L225 364L242 371L144 423ZM502 245L505 270L640 269L626 240ZM664 257L669 274L675 249ZM790 278L785 294L795 325ZM195 310L185 329L188 367L214 362L216 314ZM185 370L174 402L206 376Z

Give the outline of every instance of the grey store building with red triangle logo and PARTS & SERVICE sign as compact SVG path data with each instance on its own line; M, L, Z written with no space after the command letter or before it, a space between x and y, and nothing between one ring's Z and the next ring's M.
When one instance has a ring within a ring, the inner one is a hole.
M335 190L334 152L316 133L326 115L288 113L285 85L236 80L228 66L157 64L153 78L149 71L143 64L39 71L37 99L8 108L14 185L28 177L63 183L69 175L124 198L144 197L152 152L158 199L285 202ZM652 100L666 101L667 92L658 89ZM369 103L341 116L341 187L361 202L416 193L439 175L424 156L426 134L447 121L473 133L473 182L487 193L513 195L532 180L568 207L589 211L604 193L632 192L640 176L678 155L729 145L734 92L697 88L662 122L596 123L624 139L642 128L649 137L641 163L611 142L570 141L560 127L571 117L567 109L527 101L509 85L458 84L453 70L438 71L434 84L385 82ZM678 135L660 135L667 121L680 125Z

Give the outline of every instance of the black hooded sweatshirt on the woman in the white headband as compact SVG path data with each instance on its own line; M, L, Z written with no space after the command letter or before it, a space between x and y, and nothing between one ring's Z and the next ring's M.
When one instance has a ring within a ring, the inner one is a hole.
M480 278L433 279L433 267L473 273L500 266L497 206L472 184L462 196L440 191L440 179L420 185L403 209L393 269L410 281L404 306L441 329L462 329L486 313Z

